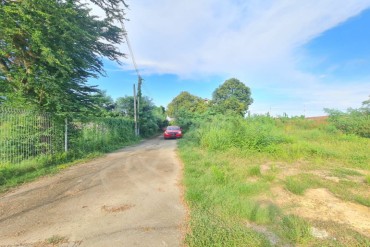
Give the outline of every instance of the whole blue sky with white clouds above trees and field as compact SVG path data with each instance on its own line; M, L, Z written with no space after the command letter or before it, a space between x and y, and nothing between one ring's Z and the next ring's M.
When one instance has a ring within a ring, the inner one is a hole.
M127 0L125 22L143 94L167 106L182 91L211 99L229 78L251 89L252 114L321 116L370 95L370 0ZM137 83L104 60L92 79L113 99Z

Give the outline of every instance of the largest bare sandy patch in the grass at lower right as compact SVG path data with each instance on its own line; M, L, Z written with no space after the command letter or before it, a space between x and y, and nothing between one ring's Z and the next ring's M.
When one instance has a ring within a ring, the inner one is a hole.
M309 189L303 196L273 189L275 203L288 212L317 221L336 222L370 237L370 209L335 197L327 189Z

